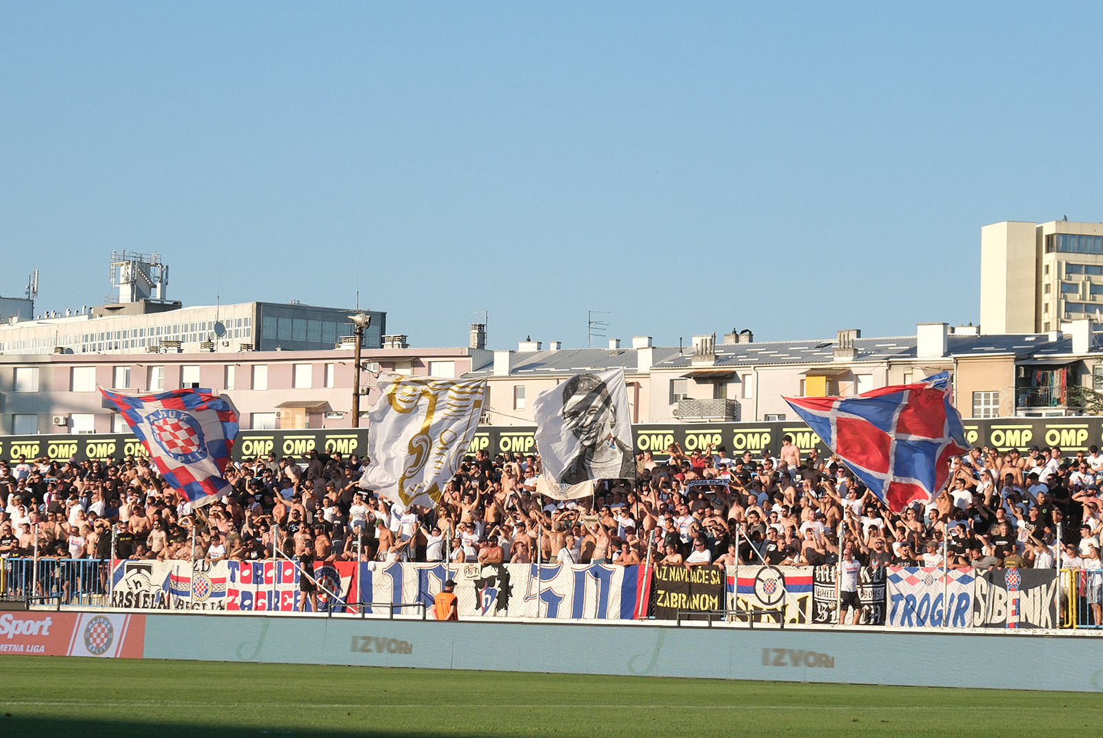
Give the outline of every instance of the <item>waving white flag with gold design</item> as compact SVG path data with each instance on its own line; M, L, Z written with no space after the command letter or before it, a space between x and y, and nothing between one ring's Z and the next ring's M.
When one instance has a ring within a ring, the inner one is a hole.
M474 438L484 381L384 373L367 437L371 464L360 486L404 505L431 507Z

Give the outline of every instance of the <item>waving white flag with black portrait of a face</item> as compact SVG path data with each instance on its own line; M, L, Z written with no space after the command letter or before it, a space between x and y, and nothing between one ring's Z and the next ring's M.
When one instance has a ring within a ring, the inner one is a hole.
M576 374L542 392L533 403L533 417L536 448L549 482L635 479L623 368Z

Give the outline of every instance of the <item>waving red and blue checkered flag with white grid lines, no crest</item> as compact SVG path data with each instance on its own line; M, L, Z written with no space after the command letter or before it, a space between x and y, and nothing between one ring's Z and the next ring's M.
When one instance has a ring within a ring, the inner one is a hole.
M950 373L857 397L785 397L847 468L892 512L930 502L968 449L950 404Z

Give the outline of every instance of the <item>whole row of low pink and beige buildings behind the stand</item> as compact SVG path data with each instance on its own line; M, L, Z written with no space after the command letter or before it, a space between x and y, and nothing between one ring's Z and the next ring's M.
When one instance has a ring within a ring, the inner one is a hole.
M852 396L930 374L953 375L953 398L965 417L1073 415L1077 386L1103 389L1103 334L1088 320L1068 333L981 335L974 327L917 327L914 335L756 343L749 331L722 343L653 346L651 339L608 349L545 350L525 341L516 351L488 351L473 331L468 347L410 349L393 342L363 350L361 425L382 371L488 382L481 418L493 426L532 426L533 402L571 375L624 370L636 424L794 420L786 396ZM481 327L476 327L480 328ZM240 353L84 353L0 355L0 434L126 432L97 387L157 392L208 387L228 396L246 429L347 428L352 425L353 346Z

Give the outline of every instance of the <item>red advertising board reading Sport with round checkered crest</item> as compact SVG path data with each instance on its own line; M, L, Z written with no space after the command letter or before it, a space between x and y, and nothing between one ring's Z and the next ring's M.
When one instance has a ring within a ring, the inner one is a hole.
M0 654L141 659L146 616L121 612L4 612Z

